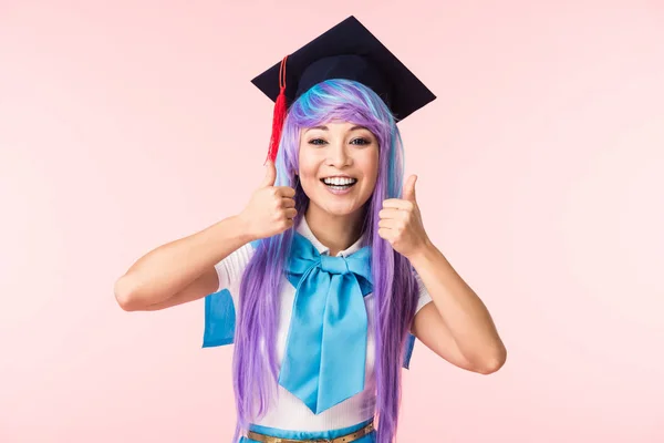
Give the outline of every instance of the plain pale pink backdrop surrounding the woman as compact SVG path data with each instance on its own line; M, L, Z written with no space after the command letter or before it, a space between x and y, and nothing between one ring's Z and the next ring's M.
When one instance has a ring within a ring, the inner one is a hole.
M350 14L438 95L407 173L509 353L484 377L418 343L400 441L664 441L661 2L170 3L0 3L1 442L230 441L203 301L127 313L113 284L243 207L249 80Z

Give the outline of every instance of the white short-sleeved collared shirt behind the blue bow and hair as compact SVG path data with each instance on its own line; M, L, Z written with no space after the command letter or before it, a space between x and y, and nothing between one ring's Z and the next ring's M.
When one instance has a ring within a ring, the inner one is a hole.
M321 255L329 255L330 249L321 244L307 224L305 217L302 217L297 231L311 241ZM361 248L362 238L345 250L340 251L336 257L346 257ZM249 259L253 255L251 244L246 244L227 258L219 261L215 268L219 277L219 288L217 291L228 289L232 297L232 302L238 312L239 302L237 297L240 293L240 280L245 267L249 264ZM417 311L426 303L432 301L426 288L416 275L419 284L419 300ZM288 330L291 320L292 306L295 299L295 288L288 281L286 276L282 276L280 297L280 313L277 327L277 362L281 365ZM375 362L375 342L373 334L373 316L374 316L374 297L369 293L364 297L367 316L367 340L366 340L366 365L364 390L350 399L323 411L320 414L314 414L307 405L292 393L278 385L276 403L272 404L268 413L260 420L252 423L262 426L278 427L283 430L295 431L328 431L340 427L352 426L374 416L376 403L376 380L374 373ZM236 317L237 318L237 317Z

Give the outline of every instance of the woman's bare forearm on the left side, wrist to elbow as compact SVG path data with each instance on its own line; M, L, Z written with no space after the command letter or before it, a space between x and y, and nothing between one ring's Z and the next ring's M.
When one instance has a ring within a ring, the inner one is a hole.
M131 295L141 306L159 303L250 240L243 222L228 217L141 257L117 280L115 292Z

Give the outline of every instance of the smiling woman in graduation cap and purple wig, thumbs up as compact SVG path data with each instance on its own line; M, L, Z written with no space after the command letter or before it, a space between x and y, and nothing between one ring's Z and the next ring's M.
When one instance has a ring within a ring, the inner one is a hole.
M246 208L147 254L116 298L125 310L156 310L207 297L209 329L208 301L229 293L234 442L242 433L240 442L388 443L411 333L478 373L498 370L506 350L428 238L416 177L403 183L395 114L433 95L405 71L391 76L405 68L354 18L289 58L255 79L277 102L278 131ZM277 73L279 96L264 86Z

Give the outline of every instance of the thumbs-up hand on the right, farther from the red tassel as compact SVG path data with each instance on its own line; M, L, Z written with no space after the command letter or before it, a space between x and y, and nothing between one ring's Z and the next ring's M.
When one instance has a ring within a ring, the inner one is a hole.
M383 209L378 213L378 235L408 259L429 243L417 207L415 182L417 176L409 176L404 184L403 198L384 200Z

